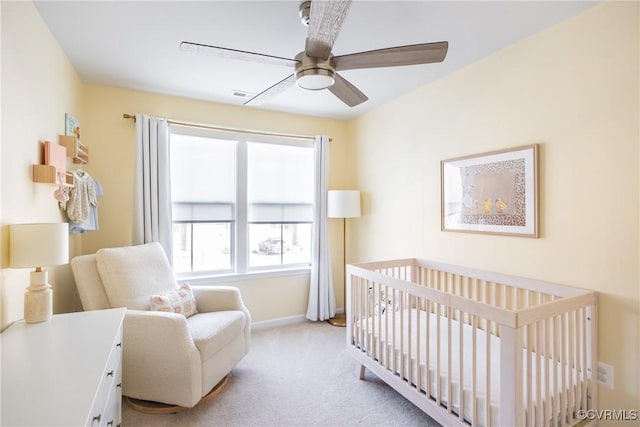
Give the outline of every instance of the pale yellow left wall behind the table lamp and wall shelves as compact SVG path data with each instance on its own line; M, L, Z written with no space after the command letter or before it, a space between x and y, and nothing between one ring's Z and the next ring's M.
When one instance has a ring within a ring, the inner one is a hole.
M8 224L65 221L54 185L31 180L42 162L40 141L64 134L65 113L83 119L82 83L31 2L0 2L2 15L2 158L0 183L0 317L2 329L23 317L29 269L11 269ZM71 255L79 239L70 240ZM79 299L68 266L49 268L54 310L75 311Z

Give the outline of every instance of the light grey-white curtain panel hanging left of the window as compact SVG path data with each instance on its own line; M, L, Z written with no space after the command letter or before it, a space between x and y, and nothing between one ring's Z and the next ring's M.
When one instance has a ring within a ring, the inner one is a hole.
M171 234L169 125L166 119L136 114L134 245L159 242L173 260Z

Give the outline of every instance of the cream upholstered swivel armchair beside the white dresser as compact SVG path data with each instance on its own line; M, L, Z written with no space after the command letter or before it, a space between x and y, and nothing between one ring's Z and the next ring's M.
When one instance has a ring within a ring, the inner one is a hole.
M247 354L251 316L238 289L192 286L197 314L151 311L178 284L158 243L101 249L71 260L83 309L127 307L125 396L193 407Z

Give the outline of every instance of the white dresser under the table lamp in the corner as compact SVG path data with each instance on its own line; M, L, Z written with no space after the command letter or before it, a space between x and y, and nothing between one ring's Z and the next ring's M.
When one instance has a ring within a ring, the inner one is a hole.
M120 425L125 311L58 314L0 334L0 425Z

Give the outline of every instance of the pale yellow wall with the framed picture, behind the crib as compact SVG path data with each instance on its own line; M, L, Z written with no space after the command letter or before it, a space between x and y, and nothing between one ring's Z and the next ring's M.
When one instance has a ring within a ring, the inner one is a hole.
M351 258L598 291L599 358L615 368L606 409L640 409L639 12L605 3L350 123L365 194ZM441 160L533 143L539 239L440 231Z

